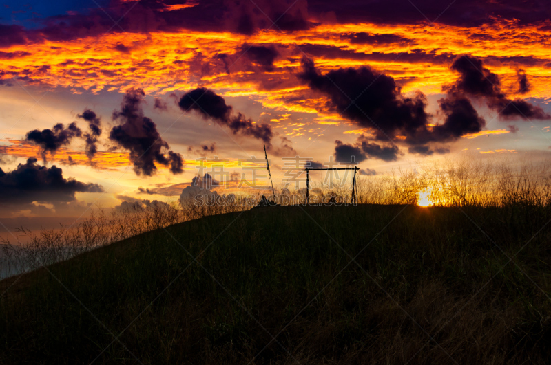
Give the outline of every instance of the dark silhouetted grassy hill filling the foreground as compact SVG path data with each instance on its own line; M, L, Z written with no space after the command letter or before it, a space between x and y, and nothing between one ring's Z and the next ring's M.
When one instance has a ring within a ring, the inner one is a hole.
M546 364L549 219L288 206L171 225L1 281L0 363Z

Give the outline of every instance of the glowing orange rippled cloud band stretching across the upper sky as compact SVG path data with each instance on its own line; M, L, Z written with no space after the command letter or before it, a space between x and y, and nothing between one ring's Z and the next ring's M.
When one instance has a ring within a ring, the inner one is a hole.
M407 41L373 45L353 43L350 37L344 36L360 32L392 34ZM110 33L101 38L12 46L5 51L26 52L25 56L6 60L4 69L12 76L27 76L30 82L62 86L74 92L79 88L97 92L139 86L147 93L168 93L205 85L225 89L229 96L254 93L269 107L312 112L313 107L282 102L289 93L306 89L298 85L293 75L300 69L303 54L313 58L322 71L368 64L398 82L406 81L403 85L406 93L417 89L437 93L441 85L457 77L448 67L453 55L468 53L495 58L487 67L507 86L516 80L517 60L526 58L526 47L530 47L531 60L526 61L532 65L521 65L532 83L532 90L526 96L549 98L551 91L546 85L551 81L551 69L545 64L551 60L550 36L550 31L533 25L520 26L505 21L469 28L437 24L433 27L318 25L288 34L264 30L252 36L191 31ZM246 57L240 50L246 43L280 45L281 55L275 60L275 69L262 78L255 77L258 75L252 70L247 71L242 65ZM118 52L117 45L124 45L128 52ZM220 54L230 55L229 74L221 61L215 62ZM210 72L198 78L197 71L201 73L205 64L210 65ZM270 83L269 78L272 84L280 86L264 89Z

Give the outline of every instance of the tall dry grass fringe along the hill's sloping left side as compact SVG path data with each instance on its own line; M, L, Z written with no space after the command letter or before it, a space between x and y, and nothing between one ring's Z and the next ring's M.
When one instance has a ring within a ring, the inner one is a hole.
M190 199L184 204L173 202L145 207L96 208L90 210L87 218L59 229L32 232L24 227L17 228L0 237L0 278L32 271L176 223L247 210L251 208L248 203L245 199L237 199L223 205L197 206Z

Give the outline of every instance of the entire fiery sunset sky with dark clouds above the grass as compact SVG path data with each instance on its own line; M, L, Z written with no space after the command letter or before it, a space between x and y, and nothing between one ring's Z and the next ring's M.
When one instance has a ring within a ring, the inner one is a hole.
M263 144L278 186L551 154L544 0L2 1L0 60L3 218L233 191Z

